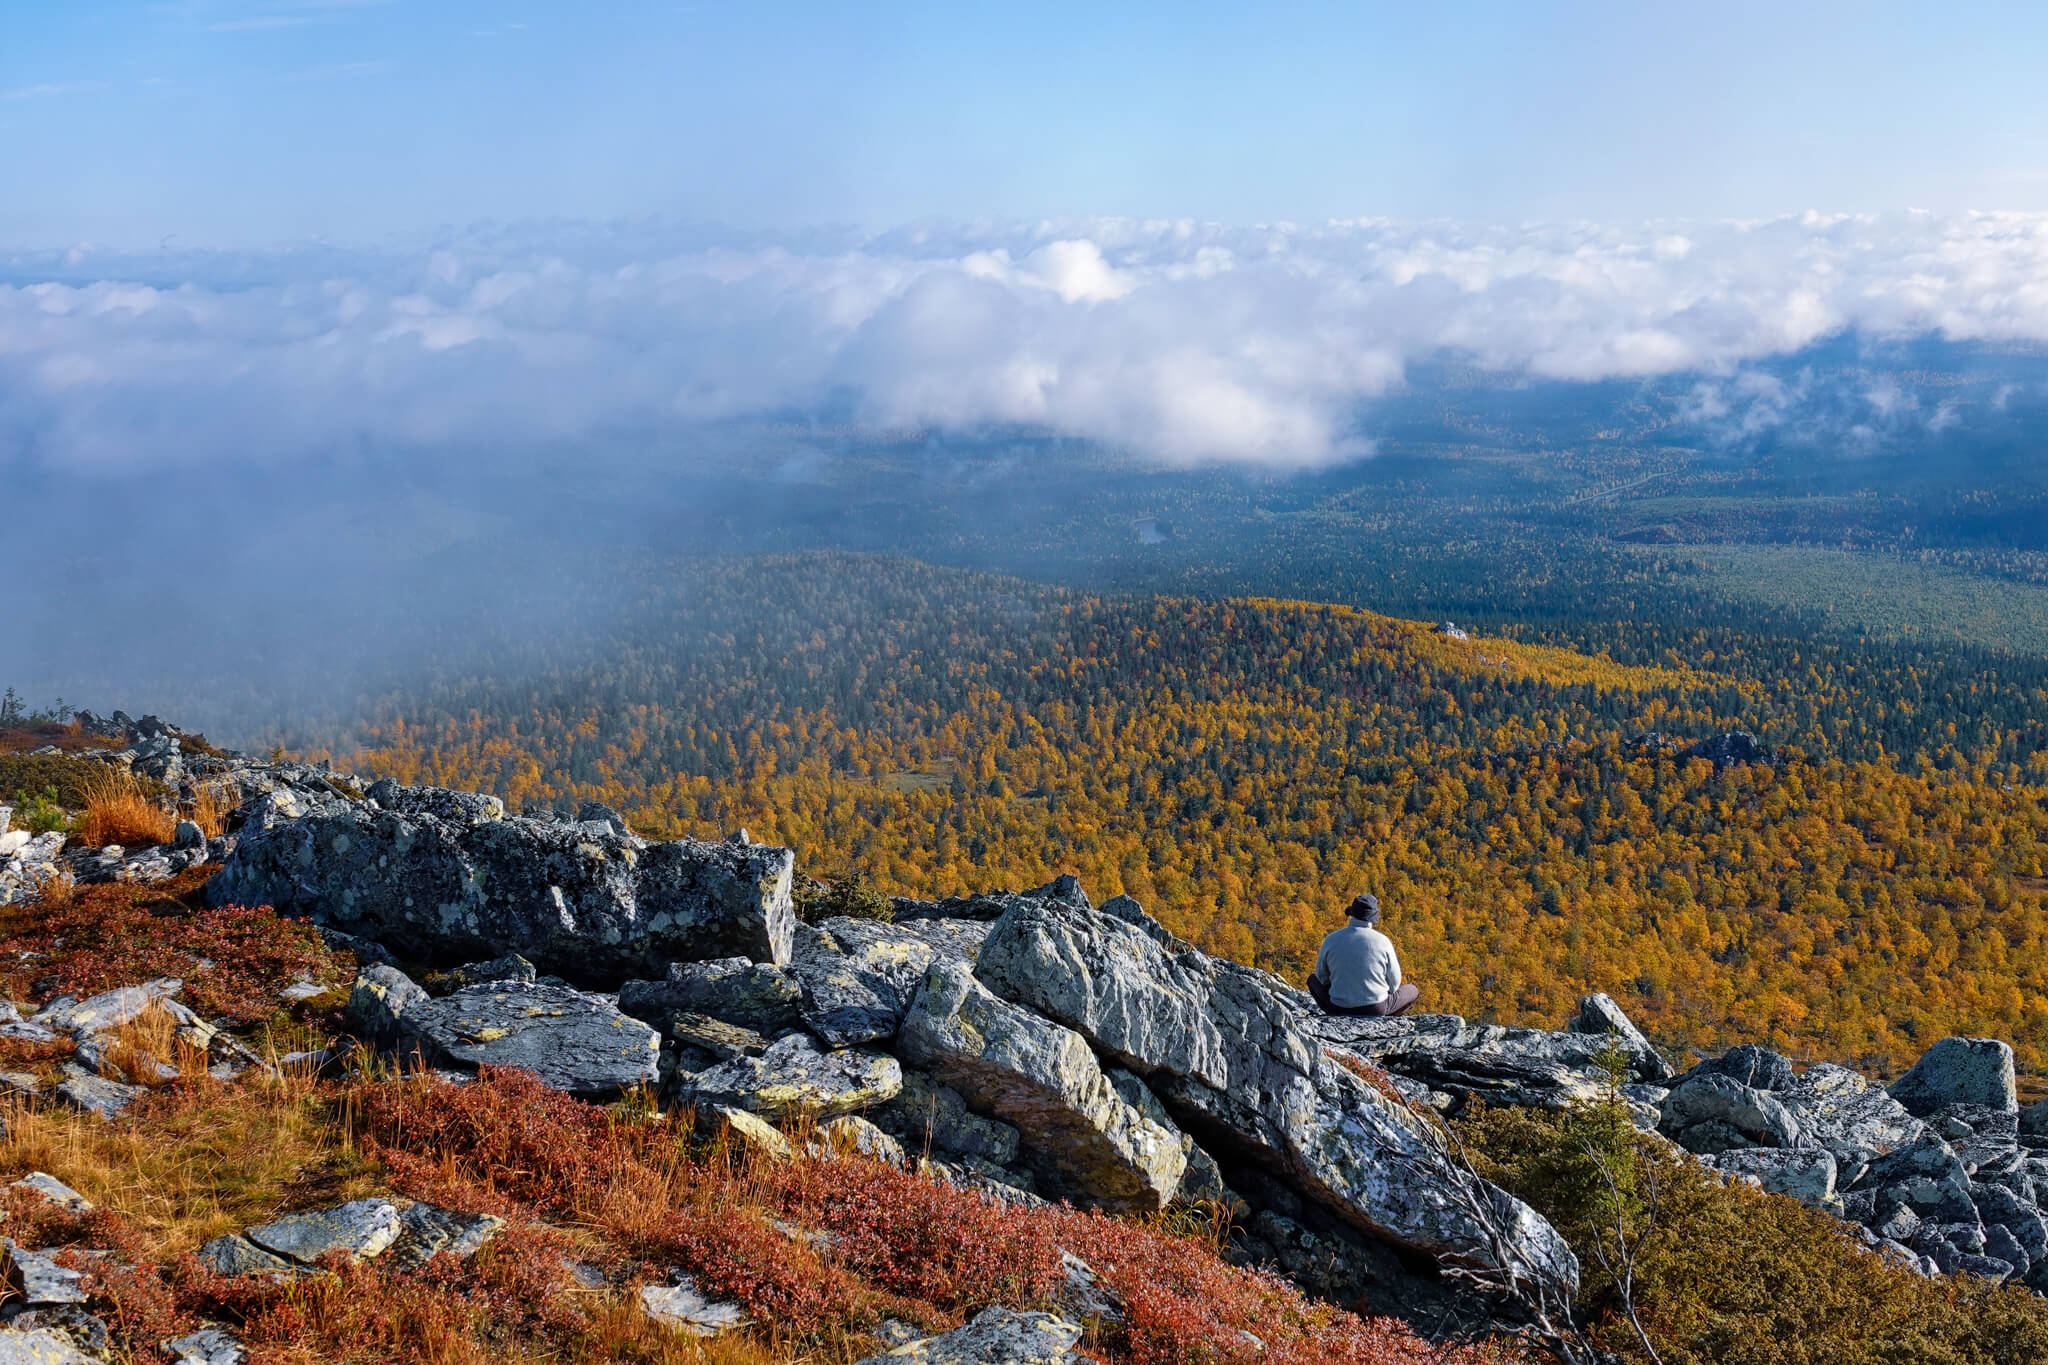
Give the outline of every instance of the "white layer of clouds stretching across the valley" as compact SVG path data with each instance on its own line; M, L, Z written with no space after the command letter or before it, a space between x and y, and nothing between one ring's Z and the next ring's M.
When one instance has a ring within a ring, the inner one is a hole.
M2048 342L2048 215L1473 227L1176 221L739 237L551 225L414 250L0 254L0 458L49 471L647 440L829 407L1163 463L1315 465L1417 360L1702 372L1843 332Z

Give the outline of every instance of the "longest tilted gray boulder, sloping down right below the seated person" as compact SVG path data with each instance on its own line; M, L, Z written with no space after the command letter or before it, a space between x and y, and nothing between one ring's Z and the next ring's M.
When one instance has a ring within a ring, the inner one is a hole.
M1362 1232L1567 1293L1577 1285L1565 1238L1450 1160L1430 1119L1311 1040L1298 1027L1305 997L1274 976L1049 898L1006 909L975 972L1143 1076L1202 1146L1282 1175ZM1481 1218L1501 1232L1507 1265Z

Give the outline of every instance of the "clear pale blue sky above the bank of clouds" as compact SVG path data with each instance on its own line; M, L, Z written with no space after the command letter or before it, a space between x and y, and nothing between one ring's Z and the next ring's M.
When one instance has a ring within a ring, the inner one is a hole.
M0 0L0 23L4 246L2048 209L2038 4Z

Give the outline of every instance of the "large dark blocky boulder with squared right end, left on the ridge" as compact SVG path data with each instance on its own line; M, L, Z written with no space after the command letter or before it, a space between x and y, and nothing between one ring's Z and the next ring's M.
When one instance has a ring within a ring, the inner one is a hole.
M272 905L418 958L516 952L571 978L733 954L788 960L788 849L645 843L610 825L506 819L492 796L373 790L393 804L246 823L207 898Z

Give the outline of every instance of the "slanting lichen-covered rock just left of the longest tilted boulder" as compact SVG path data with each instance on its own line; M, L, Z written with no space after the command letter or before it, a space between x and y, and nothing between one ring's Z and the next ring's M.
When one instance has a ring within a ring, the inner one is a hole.
M1126 1105L1079 1033L997 999L958 962L926 972L897 1050L1022 1130L1026 1164L1079 1199L1159 1209L1180 1189L1180 1134Z

